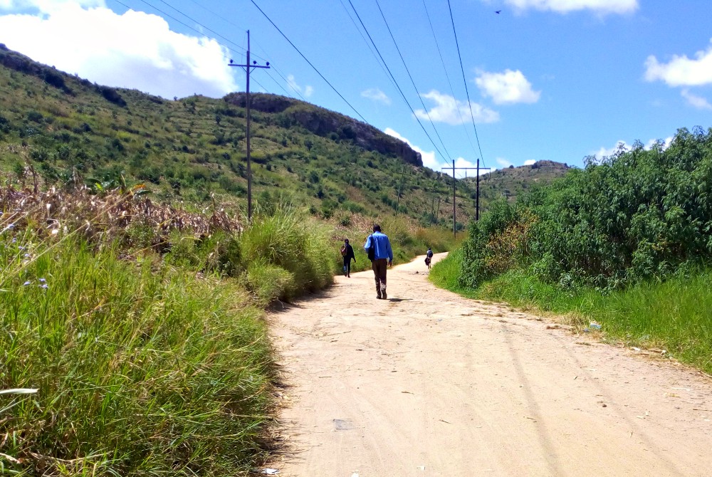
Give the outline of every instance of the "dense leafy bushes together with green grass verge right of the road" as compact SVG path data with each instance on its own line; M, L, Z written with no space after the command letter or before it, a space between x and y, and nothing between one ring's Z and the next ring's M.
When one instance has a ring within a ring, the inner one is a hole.
M712 372L712 129L589 158L469 231L434 283L596 321L609 339Z

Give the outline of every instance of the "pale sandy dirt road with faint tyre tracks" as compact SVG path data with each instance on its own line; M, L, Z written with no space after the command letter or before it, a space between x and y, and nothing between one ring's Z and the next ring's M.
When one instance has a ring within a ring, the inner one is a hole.
M422 258L388 283L337 277L273 316L279 475L712 475L707 378L439 290Z

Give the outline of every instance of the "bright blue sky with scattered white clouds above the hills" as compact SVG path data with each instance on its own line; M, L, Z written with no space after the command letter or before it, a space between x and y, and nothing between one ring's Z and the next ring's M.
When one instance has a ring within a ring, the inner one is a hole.
M0 43L164 98L289 95L424 165L582 167L712 126L710 0L0 0ZM458 171L462 177L464 171ZM468 175L472 175L468 171Z

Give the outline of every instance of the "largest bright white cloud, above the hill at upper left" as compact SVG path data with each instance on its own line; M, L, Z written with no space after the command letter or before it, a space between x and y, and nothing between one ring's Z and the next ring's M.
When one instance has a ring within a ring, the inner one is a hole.
M160 16L115 14L100 0L0 0L8 48L96 83L135 88L164 98L237 89L227 51L214 40L170 31ZM93 7L93 8L87 8Z

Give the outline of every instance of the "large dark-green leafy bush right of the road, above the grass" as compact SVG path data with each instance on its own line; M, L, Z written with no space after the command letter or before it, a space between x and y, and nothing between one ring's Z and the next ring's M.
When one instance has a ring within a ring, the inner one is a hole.
M516 265L548 283L619 288L712 258L712 129L681 129L671 145L619 150L572 170L514 208L497 206L471 224L461 283L493 266L496 241L519 228ZM509 232L507 232L509 230Z

